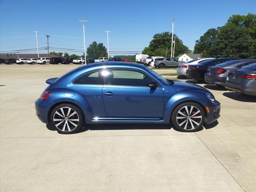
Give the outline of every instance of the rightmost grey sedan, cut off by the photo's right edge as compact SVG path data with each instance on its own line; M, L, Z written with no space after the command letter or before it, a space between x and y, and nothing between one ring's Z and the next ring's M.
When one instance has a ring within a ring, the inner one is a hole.
M231 70L225 88L241 94L256 96L256 63Z

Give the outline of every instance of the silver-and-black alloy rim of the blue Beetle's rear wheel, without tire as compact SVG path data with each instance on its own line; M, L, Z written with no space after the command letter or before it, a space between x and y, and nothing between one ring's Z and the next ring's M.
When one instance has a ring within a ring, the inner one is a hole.
M78 113L70 107L62 107L53 115L53 123L58 130L70 132L79 124Z

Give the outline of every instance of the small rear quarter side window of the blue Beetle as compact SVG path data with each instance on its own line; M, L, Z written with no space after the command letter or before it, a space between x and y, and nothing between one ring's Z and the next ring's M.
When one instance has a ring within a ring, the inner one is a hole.
M102 76L99 76L100 72L92 72L78 78L74 84L93 84L93 85L103 85L104 80Z

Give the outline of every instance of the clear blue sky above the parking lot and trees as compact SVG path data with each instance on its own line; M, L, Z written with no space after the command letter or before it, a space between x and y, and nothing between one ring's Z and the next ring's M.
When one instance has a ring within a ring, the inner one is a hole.
M110 55L128 55L141 52L154 34L172 31L194 50L195 41L208 29L223 26L233 14L256 13L256 1L0 1L0 52L36 48L35 30L38 30L38 47L46 47L50 35L50 51L56 48L83 50L85 24L86 47L96 41ZM21 51L20 51L21 52ZM46 53L40 50L39 53ZM82 55L78 51L65 51ZM36 53L29 51L24 53Z

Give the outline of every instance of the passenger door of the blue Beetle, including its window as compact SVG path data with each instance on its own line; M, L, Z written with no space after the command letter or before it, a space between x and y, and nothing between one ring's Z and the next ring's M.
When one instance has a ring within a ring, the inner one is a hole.
M108 118L162 118L164 92L144 72L132 69L104 70L102 98Z

